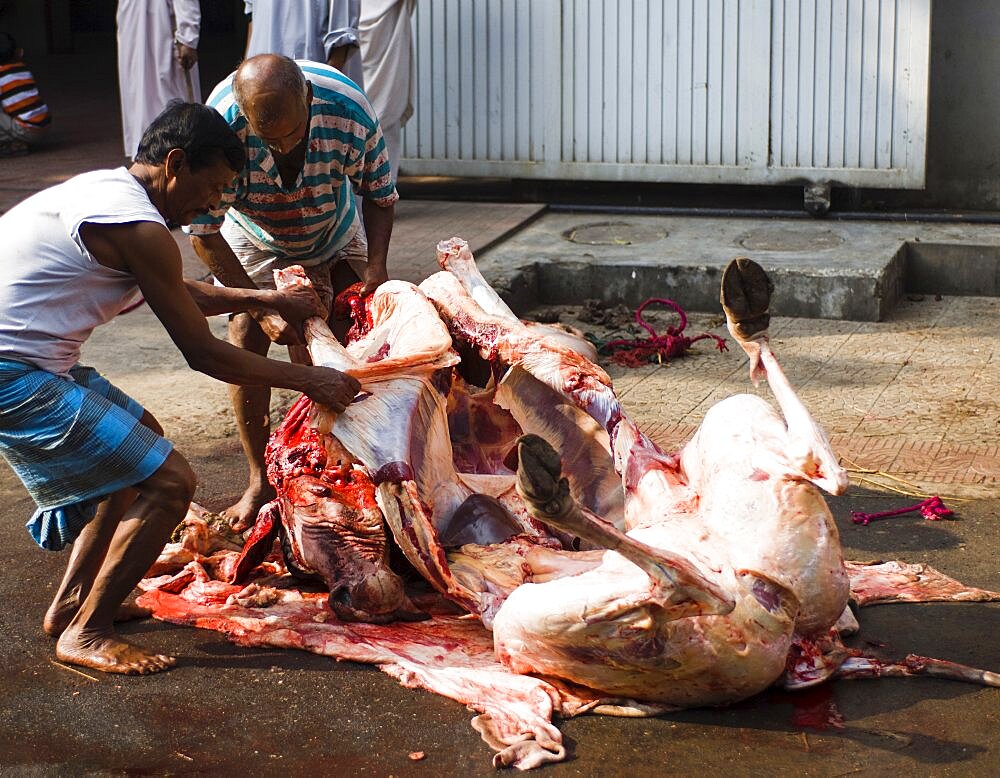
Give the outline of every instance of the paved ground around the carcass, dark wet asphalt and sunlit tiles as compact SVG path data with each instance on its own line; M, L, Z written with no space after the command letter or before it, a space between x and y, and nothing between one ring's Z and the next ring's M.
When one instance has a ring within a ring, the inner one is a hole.
M94 63L98 76L107 69L102 62ZM89 75L70 73L65 91L50 94L61 122L53 149L0 161L0 209L73 172L120 161L114 96ZM481 248L535 213L530 206L403 203L393 269L416 280L432 269L437 239L457 232ZM187 259L188 272L200 272ZM850 510L912 500L853 487L831 500L848 556L928 561L970 584L1000 589L997 304L995 298L925 297L907 301L879 324L776 320L779 357L843 455L859 469L962 498L952 503L956 521L906 516L860 527L849 522ZM690 327L718 323L701 314ZM222 324L214 322L213 329L221 333ZM197 499L220 508L238 494L242 463L225 389L187 370L148 311L99 330L85 357L159 418L199 473ZM670 447L716 399L748 389L739 355L704 346L666 366L610 369L628 409ZM275 412L290 399L276 393ZM92 680L53 664L39 624L64 560L35 548L22 529L32 506L6 467L0 504L6 573L0 579L0 772L491 772L488 750L468 725L471 714L359 665L244 650L211 632L152 622L124 631L176 653L180 665L169 673L144 679L88 674ZM861 641L888 644L896 656L913 651L1000 669L997 605L876 607L862 613L862 624ZM843 729L796 723L810 707L831 704L844 716ZM989 775L997 774L1000 755L1000 696L933 679L842 682L812 696L767 694L722 711L651 720L583 717L563 731L572 758L547 771L556 775ZM426 760L407 758L417 750Z

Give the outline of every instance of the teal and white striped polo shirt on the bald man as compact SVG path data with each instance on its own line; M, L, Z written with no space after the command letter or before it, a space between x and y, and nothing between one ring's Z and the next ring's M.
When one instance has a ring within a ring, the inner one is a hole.
M297 63L312 83L309 139L297 186L281 186L267 145L250 129L233 99L233 74L208 98L243 141L247 163L219 207L187 232L210 235L224 219L259 249L303 265L318 264L353 237L354 192L387 207L399 199L378 117L364 92L340 71L308 60Z

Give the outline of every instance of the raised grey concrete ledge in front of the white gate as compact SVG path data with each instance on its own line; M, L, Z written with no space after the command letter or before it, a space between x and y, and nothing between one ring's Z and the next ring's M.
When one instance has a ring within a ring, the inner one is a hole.
M994 225L546 213L478 258L518 312L655 296L714 312L722 269L744 255L772 273L782 316L881 321L906 293L1000 294Z

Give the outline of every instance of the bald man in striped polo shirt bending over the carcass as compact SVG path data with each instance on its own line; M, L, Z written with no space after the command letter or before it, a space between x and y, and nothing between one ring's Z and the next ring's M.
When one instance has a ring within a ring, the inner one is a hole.
M273 271L298 264L331 310L352 283L363 281L369 293L388 280L398 195L378 117L354 82L325 64L261 54L216 86L208 105L247 152L219 207L187 228L218 283L274 288ZM343 322L331 326L338 334L345 329ZM307 359L299 333L273 311L232 316L229 336L258 354L274 342L288 345L293 361ZM223 514L245 529L274 496L264 467L270 389L232 386L230 395L249 481Z

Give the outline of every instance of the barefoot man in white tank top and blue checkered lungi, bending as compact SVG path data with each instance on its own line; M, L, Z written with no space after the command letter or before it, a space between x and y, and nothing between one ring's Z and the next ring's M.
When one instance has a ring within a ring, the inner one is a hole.
M195 475L142 406L77 362L93 329L141 297L188 364L221 381L294 389L343 411L358 383L212 336L205 315L268 309L293 324L311 290L217 287L182 276L168 224L219 202L244 162L214 110L175 103L143 134L131 168L85 173L0 217L0 453L38 510L36 542L73 552L43 626L64 662L152 673L174 658L114 630L123 606L187 511Z

